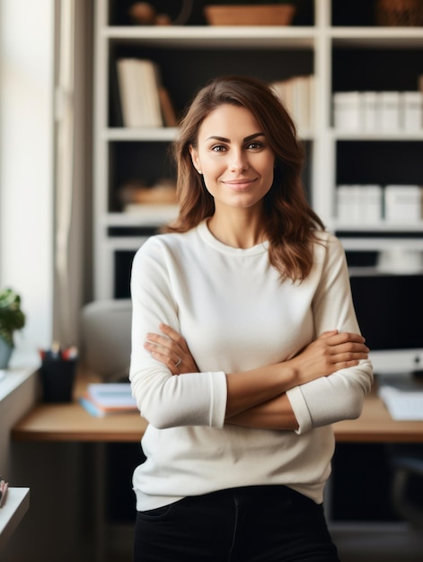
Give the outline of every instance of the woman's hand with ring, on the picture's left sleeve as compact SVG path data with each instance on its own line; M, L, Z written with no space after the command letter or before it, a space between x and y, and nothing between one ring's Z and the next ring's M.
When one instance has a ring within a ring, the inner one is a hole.
M164 335L146 335L144 347L152 357L166 365L172 374L198 373L198 366L181 334L167 324L160 324L159 329Z

